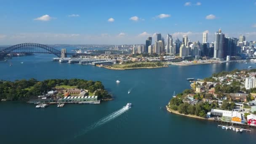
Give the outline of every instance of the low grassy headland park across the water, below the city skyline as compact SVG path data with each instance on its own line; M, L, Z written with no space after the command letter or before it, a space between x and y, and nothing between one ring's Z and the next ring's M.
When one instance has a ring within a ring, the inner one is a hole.
M159 67L168 67L167 65L161 62L132 62L126 61L122 64L115 64L106 67L107 69L117 69L117 70L124 70L124 69L142 69L142 68L159 68Z

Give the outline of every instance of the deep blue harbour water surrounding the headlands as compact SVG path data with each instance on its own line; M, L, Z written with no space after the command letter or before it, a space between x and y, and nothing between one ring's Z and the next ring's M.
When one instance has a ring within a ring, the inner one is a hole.
M186 78L204 78L214 72L248 69L248 66L256 68L252 62L110 70L60 64L51 61L51 57L53 55L37 54L2 62L0 79L100 80L115 100L90 105L66 104L63 108L50 105L45 109L36 109L35 105L22 101L2 101L2 144L256 143L256 130L252 129L251 133L224 131L217 128L218 123L173 115L165 109L173 91L179 93L189 88ZM122 110L128 102L132 107Z

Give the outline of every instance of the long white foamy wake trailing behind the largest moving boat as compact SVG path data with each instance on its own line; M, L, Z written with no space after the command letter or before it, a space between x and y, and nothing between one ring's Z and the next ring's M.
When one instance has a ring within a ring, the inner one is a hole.
M82 136L85 133L87 133L88 131L93 130L94 128L99 127L100 125L103 125L113 119L115 119L116 117L122 115L124 112L126 112L128 109L130 109L131 107L123 107L115 112L113 112L112 114L108 115L107 117L103 117L102 119L100 119L99 121L97 121L96 123L93 123L92 125L90 125L88 128L86 128L85 130L83 130L81 133L79 133L78 135L75 136L75 138L77 138L78 136Z

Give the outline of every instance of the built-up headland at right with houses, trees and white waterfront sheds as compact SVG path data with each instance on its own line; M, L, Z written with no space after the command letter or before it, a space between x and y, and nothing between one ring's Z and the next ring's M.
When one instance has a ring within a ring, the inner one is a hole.
M192 81L191 89L173 96L166 108L188 117L251 125L247 118L256 117L255 76L256 69L235 69Z

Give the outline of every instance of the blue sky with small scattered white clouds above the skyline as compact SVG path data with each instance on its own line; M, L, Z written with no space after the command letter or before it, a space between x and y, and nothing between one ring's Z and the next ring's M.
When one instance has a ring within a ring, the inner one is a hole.
M142 44L149 36L256 40L256 0L0 0L0 45ZM154 39L154 37L153 37Z

